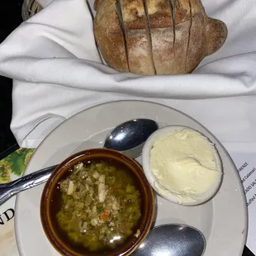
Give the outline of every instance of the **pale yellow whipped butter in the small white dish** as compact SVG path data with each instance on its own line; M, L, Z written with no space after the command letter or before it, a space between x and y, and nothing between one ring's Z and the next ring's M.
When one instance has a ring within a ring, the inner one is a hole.
M205 136L185 128L159 137L150 152L157 191L172 192L179 203L196 201L219 177L216 148Z

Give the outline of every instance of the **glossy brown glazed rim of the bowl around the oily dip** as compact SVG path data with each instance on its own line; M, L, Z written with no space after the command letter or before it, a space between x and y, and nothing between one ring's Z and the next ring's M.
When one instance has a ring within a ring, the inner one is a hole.
M85 253L80 254L75 251L72 247L64 244L64 241L59 238L57 232L55 232L53 225L53 218L50 216L50 198L55 190L57 183L63 177L64 173L69 171L75 164L85 161L86 159L90 159L93 157L98 158L102 156L102 158L110 158L114 161L120 161L131 170L131 172L135 173L136 179L139 181L142 189L147 193L142 200L145 200L147 208L149 208L148 216L142 216L140 219L140 223L143 225L140 226L140 236L138 238L130 238L124 244L122 244L120 249L113 249L108 253ZM80 161L78 161L80 159ZM45 187L43 188L43 192L41 194L40 199L40 221L45 232L47 239L50 241L50 244L62 255L69 256L89 256L89 255L130 255L137 249L140 244L143 243L146 236L149 233L151 225L154 221L154 192L152 187L150 186L147 178L145 177L145 173L143 168L138 164L134 159L126 156L125 154L121 154L120 152L112 149L86 149L83 151L79 151L76 154L70 155L68 158L64 159L51 173L50 178L45 183Z

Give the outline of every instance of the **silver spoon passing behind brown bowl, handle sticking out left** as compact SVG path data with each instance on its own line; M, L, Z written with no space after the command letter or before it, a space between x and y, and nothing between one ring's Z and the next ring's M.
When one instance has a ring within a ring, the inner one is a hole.
M126 121L111 130L106 137L103 148L115 149L135 159L141 154L145 140L147 140L149 135L157 130L158 127L155 121L149 119ZM40 171L18 178L12 183L0 184L0 206L13 195L31 187L36 187L41 183L45 183L57 166L58 164L43 168Z

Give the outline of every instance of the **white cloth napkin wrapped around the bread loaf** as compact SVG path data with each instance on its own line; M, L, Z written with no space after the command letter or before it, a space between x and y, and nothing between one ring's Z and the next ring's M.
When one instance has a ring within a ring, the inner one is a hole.
M227 147L256 152L255 0L204 0L207 15L228 26L225 45L192 74L154 77L102 64L84 0L38 2L45 8L0 45L0 74L13 79L11 129L19 145L36 147L95 104L142 99L186 112Z

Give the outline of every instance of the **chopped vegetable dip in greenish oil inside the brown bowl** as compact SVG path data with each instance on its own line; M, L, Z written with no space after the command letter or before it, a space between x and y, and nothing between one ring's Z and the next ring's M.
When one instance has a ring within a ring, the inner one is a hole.
M59 188L63 205L57 220L74 244L98 251L140 234L140 191L126 169L111 162L80 163Z

